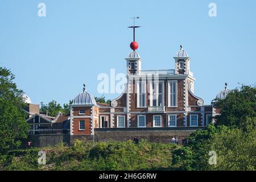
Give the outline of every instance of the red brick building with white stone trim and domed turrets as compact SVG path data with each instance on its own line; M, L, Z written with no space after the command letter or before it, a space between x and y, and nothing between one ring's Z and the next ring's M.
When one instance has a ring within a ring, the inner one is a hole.
M174 69L143 70L136 51L125 60L126 89L110 105L96 103L85 88L76 96L71 135L93 135L94 128L104 127L204 127L212 122L215 110L195 95L191 59L182 46Z

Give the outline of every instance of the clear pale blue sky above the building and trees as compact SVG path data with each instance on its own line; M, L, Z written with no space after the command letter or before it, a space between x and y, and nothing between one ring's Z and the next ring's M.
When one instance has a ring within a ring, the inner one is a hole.
M39 18L38 4L46 3ZM208 5L217 5L217 17ZM174 69L180 44L191 57L195 94L205 104L228 82L254 84L256 1L68 1L0 2L0 67L10 68L18 87L35 104L64 104L82 91L93 96L99 73L126 73L131 51L130 17L137 31L142 69ZM118 94L105 94L115 98Z

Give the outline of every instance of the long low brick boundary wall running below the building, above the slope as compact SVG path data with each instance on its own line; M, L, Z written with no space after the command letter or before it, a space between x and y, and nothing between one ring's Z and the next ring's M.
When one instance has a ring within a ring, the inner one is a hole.
M172 137L177 137L179 144L182 138L205 127L147 127L147 128L102 128L94 129L94 140L96 142L107 142L109 140L126 141L134 137L146 139L150 142L170 143ZM72 144L76 139L82 141L93 141L93 135L69 135L69 134L38 134L29 135L22 140L22 147L27 147L31 140L33 147L56 146L61 142Z

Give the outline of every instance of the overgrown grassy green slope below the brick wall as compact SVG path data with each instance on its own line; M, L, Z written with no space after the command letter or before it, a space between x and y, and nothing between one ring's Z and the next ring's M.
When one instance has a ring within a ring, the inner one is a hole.
M174 144L127 142L82 143L16 150L2 160L2 170L163 170L171 166ZM38 151L46 151L46 165L38 164Z

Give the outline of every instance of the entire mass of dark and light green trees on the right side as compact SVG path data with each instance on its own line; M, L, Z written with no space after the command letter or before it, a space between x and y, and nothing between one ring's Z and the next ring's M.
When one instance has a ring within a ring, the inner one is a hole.
M180 170L256 170L256 89L243 85L231 90L224 100L217 125L197 130L185 146L173 153L172 164ZM209 152L216 152L216 164L209 164Z

